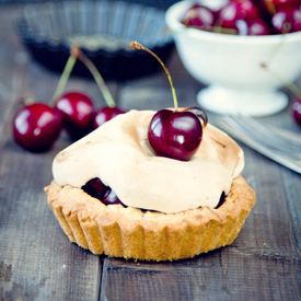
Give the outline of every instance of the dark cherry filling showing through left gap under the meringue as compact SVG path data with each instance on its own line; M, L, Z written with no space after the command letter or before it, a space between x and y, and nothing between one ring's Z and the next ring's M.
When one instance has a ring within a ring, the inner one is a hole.
M116 194L111 189L111 187L105 186L99 177L94 177L88 181L81 188L86 194L97 198L105 205L112 205L112 204L123 205L123 202L119 200Z

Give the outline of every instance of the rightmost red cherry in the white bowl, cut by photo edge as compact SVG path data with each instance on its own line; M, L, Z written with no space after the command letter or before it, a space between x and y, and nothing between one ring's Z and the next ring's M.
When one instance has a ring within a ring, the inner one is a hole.
M301 8L288 8L278 11L271 18L271 24L279 34L301 31Z

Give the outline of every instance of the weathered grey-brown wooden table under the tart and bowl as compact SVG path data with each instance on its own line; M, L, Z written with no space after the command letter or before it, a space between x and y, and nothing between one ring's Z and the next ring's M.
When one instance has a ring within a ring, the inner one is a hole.
M135 263L95 256L69 242L43 188L53 178L56 153L70 141L62 135L50 151L34 154L11 136L21 94L48 102L59 78L26 62L15 31L22 8L0 9L0 300L301 300L301 175L244 144L243 175L257 202L231 246L174 263ZM176 51L169 69L180 104L197 105L204 86ZM126 109L172 105L163 70L108 86ZM68 89L89 92L104 105L93 81L71 79ZM301 134L289 108L261 119Z

